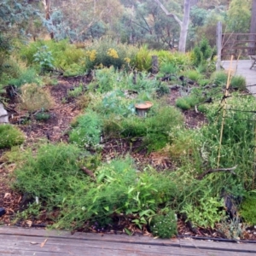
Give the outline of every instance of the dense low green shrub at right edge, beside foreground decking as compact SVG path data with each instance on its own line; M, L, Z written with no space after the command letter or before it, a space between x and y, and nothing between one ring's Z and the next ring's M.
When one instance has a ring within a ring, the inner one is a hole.
M253 193L251 195L247 194L243 201L241 202L241 209L239 211L241 218L247 224L256 225L256 195Z

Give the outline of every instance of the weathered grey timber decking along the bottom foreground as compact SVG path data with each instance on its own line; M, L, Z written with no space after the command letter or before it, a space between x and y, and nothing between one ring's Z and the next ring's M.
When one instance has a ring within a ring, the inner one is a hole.
M92 233L71 235L67 231L3 226L0 227L0 255L253 256L256 244Z

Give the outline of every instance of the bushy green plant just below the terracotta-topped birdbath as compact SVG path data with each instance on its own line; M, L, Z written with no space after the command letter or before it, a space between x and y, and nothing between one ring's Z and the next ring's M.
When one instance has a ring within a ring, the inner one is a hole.
M183 116L176 108L162 106L152 109L144 119L137 115L108 119L104 121L104 133L140 137L143 139L143 147L153 151L163 148L170 140L169 133L182 123Z

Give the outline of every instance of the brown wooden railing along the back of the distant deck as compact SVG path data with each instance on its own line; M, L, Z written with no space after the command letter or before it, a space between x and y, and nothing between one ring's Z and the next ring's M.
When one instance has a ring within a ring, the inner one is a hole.
M234 55L235 59L256 55L256 33L222 34L221 58L229 59L230 55Z

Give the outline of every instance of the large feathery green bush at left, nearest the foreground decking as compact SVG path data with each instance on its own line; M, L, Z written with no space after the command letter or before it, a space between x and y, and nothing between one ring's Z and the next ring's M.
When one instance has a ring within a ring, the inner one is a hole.
M73 191L70 177L82 178L77 161L80 153L79 148L64 143L39 145L36 154L27 149L17 162L15 189L57 207Z

